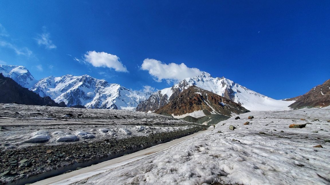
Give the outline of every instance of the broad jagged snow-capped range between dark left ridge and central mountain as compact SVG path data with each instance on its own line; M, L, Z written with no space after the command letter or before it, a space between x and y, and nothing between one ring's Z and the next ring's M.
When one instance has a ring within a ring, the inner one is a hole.
M152 92L132 91L89 75L49 76L39 80L31 90L40 96L50 96L55 102L64 101L68 107L84 105L93 109L134 109Z

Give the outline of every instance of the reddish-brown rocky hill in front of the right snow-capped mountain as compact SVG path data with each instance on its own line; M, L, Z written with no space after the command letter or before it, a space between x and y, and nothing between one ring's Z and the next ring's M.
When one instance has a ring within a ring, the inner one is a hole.
M202 110L225 116L249 112L244 107L223 96L196 86L190 86L188 89L182 91L176 98L172 99L167 105L156 110L155 113L180 116Z

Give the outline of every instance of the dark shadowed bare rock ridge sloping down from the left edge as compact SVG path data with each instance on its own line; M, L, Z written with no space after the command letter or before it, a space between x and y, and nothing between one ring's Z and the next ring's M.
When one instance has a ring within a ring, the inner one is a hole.
M17 102L25 105L51 105L59 107L60 105L49 96L40 97L37 93L20 86L12 78L4 77L0 73L0 103ZM63 103L62 106L66 105Z

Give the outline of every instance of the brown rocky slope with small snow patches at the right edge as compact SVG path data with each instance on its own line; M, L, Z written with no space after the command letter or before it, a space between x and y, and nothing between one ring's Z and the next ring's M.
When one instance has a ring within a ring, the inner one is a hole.
M289 105L289 107L297 109L304 106L311 107L326 107L330 105L330 79L325 81L322 85L318 85L311 89L304 95L294 98L296 102Z

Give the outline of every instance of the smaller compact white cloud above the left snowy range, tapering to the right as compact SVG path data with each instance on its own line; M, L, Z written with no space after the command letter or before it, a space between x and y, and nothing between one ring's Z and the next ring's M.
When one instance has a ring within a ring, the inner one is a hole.
M105 52L88 51L84 61L94 67L109 67L116 71L128 72L126 66L119 61L119 57Z

